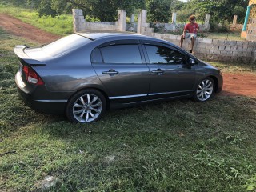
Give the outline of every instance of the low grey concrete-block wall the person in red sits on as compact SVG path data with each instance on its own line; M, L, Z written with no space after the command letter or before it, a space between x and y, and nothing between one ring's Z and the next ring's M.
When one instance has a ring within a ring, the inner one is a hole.
M180 35L147 34L162 38L179 46ZM183 49L190 49L190 40L183 42ZM226 41L210 38L197 38L194 44L194 55L200 59L215 62L256 62L256 42Z

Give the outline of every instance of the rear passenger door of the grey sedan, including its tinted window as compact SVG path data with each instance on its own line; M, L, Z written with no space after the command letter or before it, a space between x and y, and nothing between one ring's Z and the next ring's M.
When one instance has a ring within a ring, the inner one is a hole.
M146 99L150 72L138 40L104 43L93 50L91 62L110 99Z

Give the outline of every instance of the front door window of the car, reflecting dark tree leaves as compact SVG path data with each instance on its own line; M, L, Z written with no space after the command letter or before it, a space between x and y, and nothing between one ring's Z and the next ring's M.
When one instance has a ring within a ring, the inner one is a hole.
M146 52L150 63L154 64L182 64L184 55L178 50L172 50L165 46L146 45Z

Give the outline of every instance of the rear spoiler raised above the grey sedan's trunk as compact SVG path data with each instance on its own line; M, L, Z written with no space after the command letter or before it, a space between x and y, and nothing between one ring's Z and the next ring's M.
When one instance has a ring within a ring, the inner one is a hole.
M18 56L19 59L22 59L27 64L30 64L30 66L46 66L45 63L32 59L25 53L24 50L29 48L29 46L18 45L14 47L14 53Z

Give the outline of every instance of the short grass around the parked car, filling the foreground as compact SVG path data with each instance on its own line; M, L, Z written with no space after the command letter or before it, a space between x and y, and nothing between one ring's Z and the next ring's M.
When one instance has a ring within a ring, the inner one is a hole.
M49 175L55 182L46 191L256 189L256 98L159 102L73 124L18 98L13 47L37 45L3 30L0 41L0 190L42 191Z

